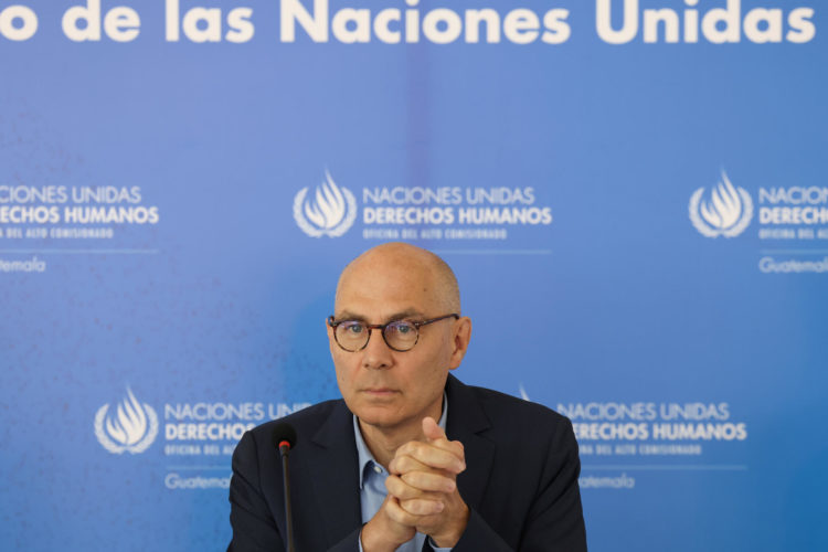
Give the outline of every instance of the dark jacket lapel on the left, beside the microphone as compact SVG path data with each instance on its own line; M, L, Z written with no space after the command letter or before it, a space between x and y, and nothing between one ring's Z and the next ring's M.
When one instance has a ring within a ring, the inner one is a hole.
M316 530L323 531L332 546L362 524L353 422L343 402L335 404L310 440L315 452L308 464L321 520Z

